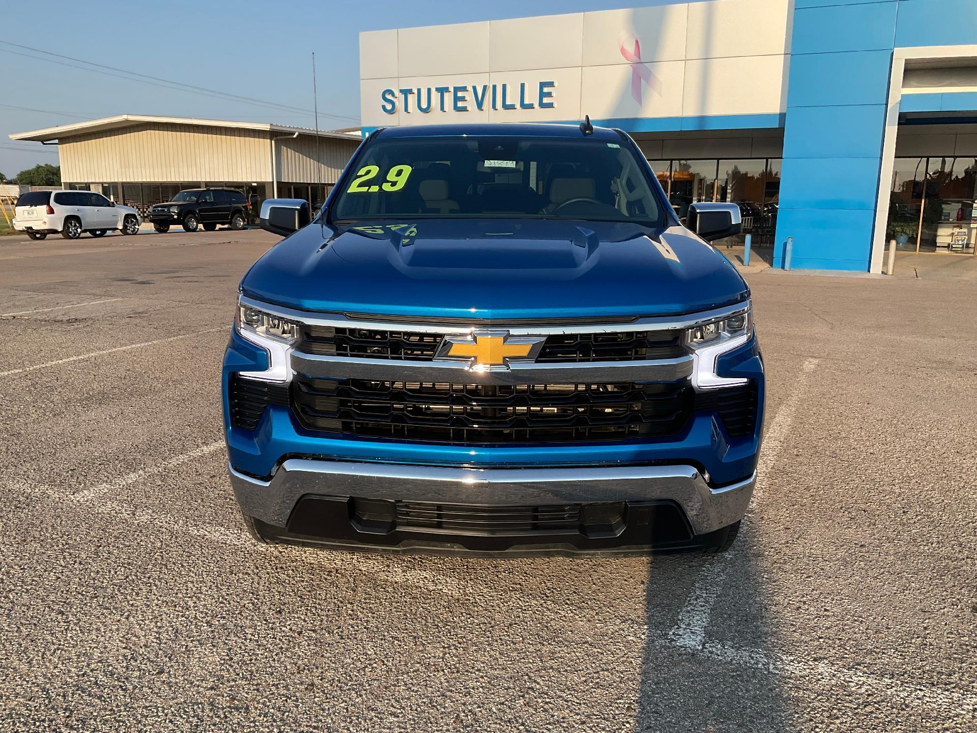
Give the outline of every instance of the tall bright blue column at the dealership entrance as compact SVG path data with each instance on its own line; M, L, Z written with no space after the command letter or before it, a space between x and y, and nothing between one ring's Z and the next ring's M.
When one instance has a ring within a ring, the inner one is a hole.
M897 6L794 11L774 267L869 271Z

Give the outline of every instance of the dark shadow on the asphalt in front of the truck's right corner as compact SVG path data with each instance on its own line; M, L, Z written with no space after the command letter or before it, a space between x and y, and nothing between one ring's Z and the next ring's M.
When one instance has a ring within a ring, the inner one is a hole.
M748 521L726 554L652 559L636 732L793 729Z

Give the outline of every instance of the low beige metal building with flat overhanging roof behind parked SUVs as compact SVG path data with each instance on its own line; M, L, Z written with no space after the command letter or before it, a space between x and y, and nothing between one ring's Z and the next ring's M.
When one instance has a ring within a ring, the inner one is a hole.
M318 207L360 144L355 134L257 122L120 114L11 135L57 144L65 189L98 191L144 214L184 189L239 189L252 202Z

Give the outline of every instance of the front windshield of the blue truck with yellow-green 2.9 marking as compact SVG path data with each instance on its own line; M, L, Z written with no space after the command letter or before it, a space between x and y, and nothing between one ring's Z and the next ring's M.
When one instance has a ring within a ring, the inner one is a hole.
M333 221L547 218L660 225L646 163L607 140L444 137L363 148Z

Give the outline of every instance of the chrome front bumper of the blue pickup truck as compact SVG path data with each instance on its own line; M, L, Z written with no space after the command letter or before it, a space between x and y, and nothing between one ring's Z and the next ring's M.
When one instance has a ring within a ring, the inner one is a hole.
M462 468L293 458L271 481L229 465L241 510L285 527L301 496L358 496L455 504L553 504L670 499L696 535L728 527L746 513L756 474L712 489L692 466Z

